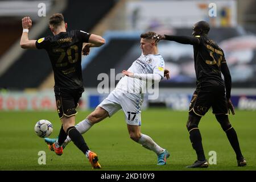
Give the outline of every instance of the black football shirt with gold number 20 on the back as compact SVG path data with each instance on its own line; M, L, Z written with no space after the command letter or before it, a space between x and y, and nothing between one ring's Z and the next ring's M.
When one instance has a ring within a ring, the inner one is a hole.
M36 41L36 48L46 49L54 73L55 88L77 89L82 86L82 43L90 34L81 30L60 32Z

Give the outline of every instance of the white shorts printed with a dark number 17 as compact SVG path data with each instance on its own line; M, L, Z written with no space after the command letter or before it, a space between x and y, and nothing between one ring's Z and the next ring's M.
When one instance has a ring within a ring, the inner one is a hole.
M141 94L126 93L124 90L114 89L98 106L108 111L109 117L123 109L128 125L141 126L142 103L143 96Z

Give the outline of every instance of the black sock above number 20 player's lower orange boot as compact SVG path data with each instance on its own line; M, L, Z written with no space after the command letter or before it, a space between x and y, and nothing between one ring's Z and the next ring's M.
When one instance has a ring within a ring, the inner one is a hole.
M76 127L75 126L69 127L67 129L67 134L71 138L73 143L75 143L77 148L79 148L86 155L86 152L89 150L89 147L85 143L85 140L82 137L82 135L79 133L79 131L77 131Z

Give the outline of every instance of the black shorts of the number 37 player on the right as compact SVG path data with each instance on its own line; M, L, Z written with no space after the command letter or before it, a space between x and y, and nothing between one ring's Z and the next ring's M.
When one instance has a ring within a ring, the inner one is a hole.
M199 86L193 93L189 112L203 116L212 107L213 114L228 114L228 104L225 96L225 86L215 82Z

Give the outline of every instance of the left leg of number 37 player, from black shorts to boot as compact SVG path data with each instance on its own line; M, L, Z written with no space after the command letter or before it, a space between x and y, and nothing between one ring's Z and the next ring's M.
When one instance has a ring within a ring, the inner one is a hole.
M188 168L208 167L208 163L204 155L202 137L198 126L201 117L207 113L210 107L207 101L207 94L208 92L201 93L196 90L193 93L191 104L189 106L188 122L186 126L192 147L196 151L197 160L191 166L187 166Z

